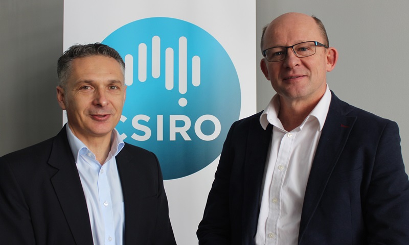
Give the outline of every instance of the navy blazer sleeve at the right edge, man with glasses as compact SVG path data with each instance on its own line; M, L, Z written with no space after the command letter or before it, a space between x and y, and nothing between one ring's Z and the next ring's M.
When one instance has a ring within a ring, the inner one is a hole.
M368 243L409 244L409 181L395 122L390 121L380 136L365 200Z

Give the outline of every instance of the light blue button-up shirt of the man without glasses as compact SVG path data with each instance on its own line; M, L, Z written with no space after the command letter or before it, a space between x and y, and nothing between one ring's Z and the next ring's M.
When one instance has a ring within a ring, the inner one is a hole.
M125 228L124 201L115 157L124 147L117 130L111 134L111 150L101 165L67 124L67 136L84 190L95 245L122 245Z

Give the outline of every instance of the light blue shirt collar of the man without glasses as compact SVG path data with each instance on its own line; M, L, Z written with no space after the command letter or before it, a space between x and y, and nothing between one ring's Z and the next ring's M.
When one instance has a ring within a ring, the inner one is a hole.
M74 135L68 124L66 124L66 129L71 152L73 153L75 162L78 162L78 155L82 152L81 150L85 149L89 151L89 149L80 139L77 138L77 136ZM124 148L124 145L125 143L121 139L118 131L116 129L113 129L111 133L111 150L109 152L109 156L116 157L118 153Z

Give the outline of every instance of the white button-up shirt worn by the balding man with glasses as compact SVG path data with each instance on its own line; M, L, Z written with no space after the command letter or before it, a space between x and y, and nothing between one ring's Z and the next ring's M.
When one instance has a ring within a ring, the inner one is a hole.
M328 88L302 124L287 132L280 119L279 96L260 116L273 126L264 171L256 245L296 245L308 176L331 102Z

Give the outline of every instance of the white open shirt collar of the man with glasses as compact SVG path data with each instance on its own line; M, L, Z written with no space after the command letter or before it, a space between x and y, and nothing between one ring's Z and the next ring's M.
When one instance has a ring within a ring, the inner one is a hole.
M316 106L311 111L311 113L305 118L304 122L308 120L311 116L314 116L320 124L320 131L321 131L324 127L325 119L327 118L329 105L331 103L331 97L332 97L331 91L329 90L329 87L327 84L326 90L321 100L318 102L318 104L316 104ZM263 127L263 129L265 130L268 124L271 124L273 126L283 128L280 119L278 119L279 112L280 112L280 100L279 100L279 95L276 94L272 97L267 107L265 108L263 113L260 115L261 127ZM303 125L304 122L301 125Z

